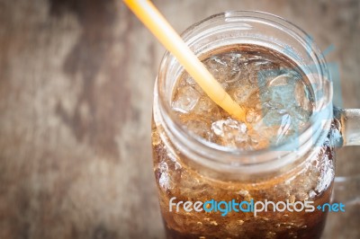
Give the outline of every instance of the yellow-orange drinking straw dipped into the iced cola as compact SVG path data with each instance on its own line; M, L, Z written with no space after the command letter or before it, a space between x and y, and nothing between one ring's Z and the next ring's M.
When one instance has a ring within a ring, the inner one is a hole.
M157 40L177 58L213 102L216 102L222 109L238 120L245 121L245 110L231 99L219 82L214 79L202 62L193 54L193 51L187 47L184 40L170 26L164 16L158 12L154 4L148 0L123 1L148 30L157 37Z

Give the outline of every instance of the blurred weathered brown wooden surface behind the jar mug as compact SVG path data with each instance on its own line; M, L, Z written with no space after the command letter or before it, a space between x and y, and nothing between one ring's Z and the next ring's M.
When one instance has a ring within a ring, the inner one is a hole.
M343 106L360 108L359 1L154 3L176 31L226 10L295 22L334 47ZM164 238L150 151L163 53L121 1L0 0L1 239ZM359 160L339 150L338 174ZM330 214L324 238L360 238L359 225L359 206Z

